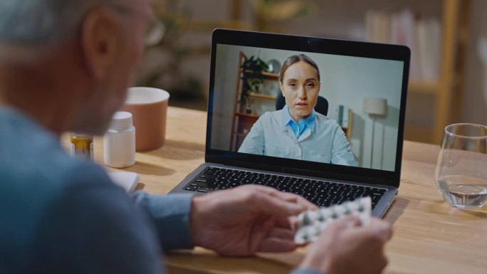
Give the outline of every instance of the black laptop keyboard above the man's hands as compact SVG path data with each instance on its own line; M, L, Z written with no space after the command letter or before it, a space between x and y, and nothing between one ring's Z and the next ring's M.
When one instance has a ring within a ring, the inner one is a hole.
M206 193L220 189L231 189L244 184L271 186L279 191L298 194L320 207L341 204L344 201L352 201L359 197L370 196L372 199L372 209L374 209L380 198L387 191L387 189L376 187L247 172L238 169L223 169L219 167L206 167L193 181L184 186L184 189Z

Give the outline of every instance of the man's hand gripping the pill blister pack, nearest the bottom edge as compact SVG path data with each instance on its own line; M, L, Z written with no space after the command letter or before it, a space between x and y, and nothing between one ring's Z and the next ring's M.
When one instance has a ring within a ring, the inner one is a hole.
M370 226L360 226L356 217L342 218L323 231L310 246L299 268L328 274L376 274L387 265L384 243L392 235L389 223L372 218Z

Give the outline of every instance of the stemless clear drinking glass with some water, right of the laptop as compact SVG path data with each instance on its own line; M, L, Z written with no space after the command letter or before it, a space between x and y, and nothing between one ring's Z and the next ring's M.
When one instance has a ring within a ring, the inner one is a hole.
M487 201L487 127L454 124L445 127L436 163L441 196L459 209L478 209Z

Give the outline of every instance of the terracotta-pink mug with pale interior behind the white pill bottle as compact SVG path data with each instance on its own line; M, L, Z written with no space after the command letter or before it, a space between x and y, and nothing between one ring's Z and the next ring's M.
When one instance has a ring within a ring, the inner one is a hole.
M129 88L122 111L132 113L135 126L135 149L162 147L166 138L169 93L159 88Z

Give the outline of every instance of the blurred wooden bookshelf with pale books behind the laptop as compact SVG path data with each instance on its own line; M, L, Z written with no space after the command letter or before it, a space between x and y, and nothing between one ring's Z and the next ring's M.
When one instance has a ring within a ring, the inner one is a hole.
M352 4L355 9L348 11ZM323 36L342 33L337 38L411 48L404 137L439 144L444 127L461 119L471 1L325 0L320 7L326 8L322 18L333 18L322 22L339 30L328 29Z

